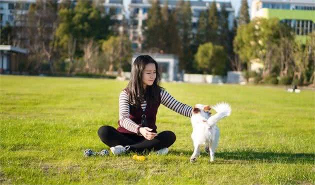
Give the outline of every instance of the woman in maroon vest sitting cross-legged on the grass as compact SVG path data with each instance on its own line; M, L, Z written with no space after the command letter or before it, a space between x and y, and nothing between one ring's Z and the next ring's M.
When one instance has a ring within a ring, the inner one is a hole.
M135 58L130 81L119 96L119 121L117 129L104 125L97 133L114 155L128 151L155 151L167 154L176 136L172 131L156 130L158 106L164 106L191 117L192 107L174 99L160 84L157 62L149 55Z

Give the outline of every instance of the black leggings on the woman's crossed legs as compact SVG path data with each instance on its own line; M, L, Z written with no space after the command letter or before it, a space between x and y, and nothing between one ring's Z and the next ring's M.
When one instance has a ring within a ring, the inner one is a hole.
M144 150L159 150L172 145L176 136L172 131L159 132L152 140L147 140L143 136L131 133L121 133L112 126L101 126L98 131L100 140L109 147L129 145L129 151L142 152Z

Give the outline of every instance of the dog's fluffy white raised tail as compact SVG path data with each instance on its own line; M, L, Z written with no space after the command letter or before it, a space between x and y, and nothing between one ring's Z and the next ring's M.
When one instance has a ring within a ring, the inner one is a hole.
M228 103L220 102L214 106L211 106L216 111L216 114L210 116L207 120L207 123L211 126L215 124L218 120L225 116L229 116L231 114L231 106Z

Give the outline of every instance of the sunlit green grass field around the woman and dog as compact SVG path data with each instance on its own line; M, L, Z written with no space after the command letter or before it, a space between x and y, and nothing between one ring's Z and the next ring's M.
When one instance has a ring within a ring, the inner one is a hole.
M165 156L135 161L86 158L105 146L101 125L116 127L118 95L127 81L0 76L0 183L27 184L314 184L315 93L267 86L162 83L189 105L226 101L232 113L210 163L204 150L190 163L188 117L160 105L158 131L177 139Z

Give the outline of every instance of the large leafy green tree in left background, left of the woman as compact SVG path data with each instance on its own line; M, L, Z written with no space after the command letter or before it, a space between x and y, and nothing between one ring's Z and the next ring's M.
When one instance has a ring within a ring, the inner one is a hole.
M58 44L70 61L68 73L74 70L74 56L81 57L94 41L106 39L110 31L109 16L102 15L91 1L78 1L73 8L59 10L56 30ZM86 53L88 55L88 53ZM88 56L83 56L83 58Z

